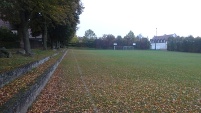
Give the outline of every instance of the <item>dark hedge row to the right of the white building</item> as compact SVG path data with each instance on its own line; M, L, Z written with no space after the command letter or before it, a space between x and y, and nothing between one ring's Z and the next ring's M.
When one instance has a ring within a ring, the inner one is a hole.
M171 37L168 39L167 49L168 51L201 53L201 37Z

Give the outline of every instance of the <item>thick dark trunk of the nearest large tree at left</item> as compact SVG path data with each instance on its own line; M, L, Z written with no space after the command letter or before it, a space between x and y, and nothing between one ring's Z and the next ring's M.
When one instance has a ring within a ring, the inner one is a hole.
M22 32L20 33L23 37L23 41L24 41L24 50L25 50L25 53L27 55L30 55L31 54L31 46L30 46L30 41L29 41L29 26L28 26L28 23L29 23L29 18L28 18L28 15L25 14L25 12L20 12L20 20L21 20L21 23L19 25L19 31Z

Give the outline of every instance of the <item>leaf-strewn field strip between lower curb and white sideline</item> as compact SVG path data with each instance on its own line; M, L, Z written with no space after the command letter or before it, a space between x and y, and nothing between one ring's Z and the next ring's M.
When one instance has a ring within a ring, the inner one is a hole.
M72 54L66 55L45 89L29 109L29 113L94 112L96 108L91 104L91 97L86 91L87 86L81 79L74 58Z

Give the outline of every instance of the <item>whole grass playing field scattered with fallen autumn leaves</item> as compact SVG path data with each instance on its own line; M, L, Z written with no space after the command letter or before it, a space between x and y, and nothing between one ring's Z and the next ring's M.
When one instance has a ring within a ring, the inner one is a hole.
M201 112L201 55L69 50L29 112Z

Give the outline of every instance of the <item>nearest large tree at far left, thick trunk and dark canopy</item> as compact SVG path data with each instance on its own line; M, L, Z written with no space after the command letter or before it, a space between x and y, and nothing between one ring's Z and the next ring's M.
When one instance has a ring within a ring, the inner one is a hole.
M17 24L18 34L23 39L26 54L31 54L28 24L36 9L36 2L33 0L0 0L0 18L11 24Z

